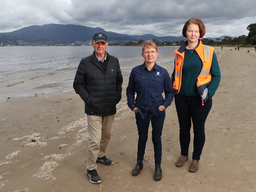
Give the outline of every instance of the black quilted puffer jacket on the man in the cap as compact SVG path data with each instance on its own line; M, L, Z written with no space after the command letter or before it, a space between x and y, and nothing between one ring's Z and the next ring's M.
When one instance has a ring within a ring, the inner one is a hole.
M116 104L121 100L123 76L118 58L107 53L106 65L104 72L95 52L78 65L73 88L84 101L84 112L88 115L115 114Z

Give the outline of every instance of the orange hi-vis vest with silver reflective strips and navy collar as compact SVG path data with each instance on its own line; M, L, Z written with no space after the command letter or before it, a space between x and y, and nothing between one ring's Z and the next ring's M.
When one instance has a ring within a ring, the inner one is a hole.
M175 57L175 80L173 83L173 88L176 91L176 94L179 93L181 88L181 77L182 77L182 66L185 56L185 48L188 45L187 41L181 45L180 48L174 51ZM203 45L199 39L198 46L194 49L198 56L200 57L203 65L199 76L197 77L196 87L199 92L199 95L202 98L202 105L206 102L208 98L208 89L209 82L211 81L211 61L213 59L214 48Z

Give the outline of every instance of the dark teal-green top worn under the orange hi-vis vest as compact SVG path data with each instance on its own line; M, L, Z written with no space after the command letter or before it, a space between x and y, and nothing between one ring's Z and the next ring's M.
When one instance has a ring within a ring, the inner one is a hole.
M175 65L175 64L174 64ZM202 69L202 60L196 53L189 49L185 49L185 58L182 67L181 88L179 93L186 96L198 96L196 87L197 77ZM211 82L208 86L208 99L211 99L220 83L220 68L215 52L213 52L213 60L211 62ZM172 73L172 84L174 82L175 68Z

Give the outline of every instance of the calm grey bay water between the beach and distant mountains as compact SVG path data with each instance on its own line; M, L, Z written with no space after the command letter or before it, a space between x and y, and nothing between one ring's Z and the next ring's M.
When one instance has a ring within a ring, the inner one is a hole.
M173 65L175 48L159 47L157 63ZM107 51L119 59L123 75L143 62L141 47L109 46ZM72 90L78 63L92 52L90 46L0 47L0 102Z

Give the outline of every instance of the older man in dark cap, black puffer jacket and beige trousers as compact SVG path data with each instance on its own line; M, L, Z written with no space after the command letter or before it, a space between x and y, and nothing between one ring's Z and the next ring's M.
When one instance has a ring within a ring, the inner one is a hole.
M87 176L91 183L100 183L96 163L113 164L105 156L105 151L116 104L121 100L123 77L118 58L106 52L108 38L105 34L95 34L92 47L93 54L83 58L78 65L73 88L85 103L88 120Z

